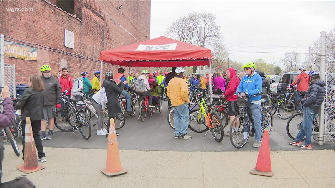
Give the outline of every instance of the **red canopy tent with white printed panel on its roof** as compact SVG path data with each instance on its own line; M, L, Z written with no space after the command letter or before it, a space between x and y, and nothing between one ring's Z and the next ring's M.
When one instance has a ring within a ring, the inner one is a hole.
M101 64L106 62L129 67L129 69L130 67L190 67L207 65L209 66L210 74L211 59L212 53L210 49L165 36L100 52Z

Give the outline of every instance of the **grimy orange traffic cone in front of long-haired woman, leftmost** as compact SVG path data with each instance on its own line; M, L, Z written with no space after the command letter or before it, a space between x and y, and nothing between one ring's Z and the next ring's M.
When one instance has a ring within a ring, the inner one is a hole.
M20 165L17 168L26 174L44 169L45 166L39 165L39 162L37 161L35 140L32 135L30 117L26 118L24 142L24 162L23 165Z

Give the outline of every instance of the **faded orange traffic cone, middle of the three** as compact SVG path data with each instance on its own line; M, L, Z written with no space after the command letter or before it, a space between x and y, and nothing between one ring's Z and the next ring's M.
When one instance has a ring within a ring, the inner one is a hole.
M111 123L109 126L106 168L100 169L100 171L107 176L115 176L128 172L127 169L121 167L119 145L118 139L116 138L114 118L111 119Z

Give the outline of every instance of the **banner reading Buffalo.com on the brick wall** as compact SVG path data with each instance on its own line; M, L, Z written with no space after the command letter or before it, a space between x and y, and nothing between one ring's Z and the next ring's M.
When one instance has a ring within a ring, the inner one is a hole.
M5 57L21 60L37 60L37 48L12 41L4 41Z

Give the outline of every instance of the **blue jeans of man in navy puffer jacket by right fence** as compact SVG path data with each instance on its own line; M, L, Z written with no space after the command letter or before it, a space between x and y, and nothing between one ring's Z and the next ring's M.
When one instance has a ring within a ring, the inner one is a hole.
M300 142L306 136L305 145L308 146L311 144L313 121L316 115L317 113L315 113L310 107L304 108L304 120L301 123L300 131L295 137L295 142Z

